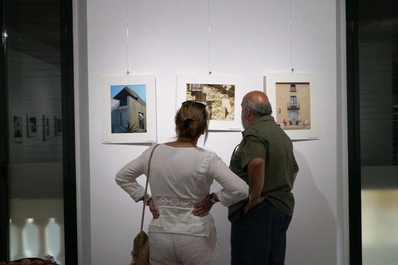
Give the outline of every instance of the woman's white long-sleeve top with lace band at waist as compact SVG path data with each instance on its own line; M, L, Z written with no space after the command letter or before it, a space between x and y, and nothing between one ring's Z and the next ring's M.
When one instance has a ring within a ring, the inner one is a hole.
M147 174L153 148L148 148L116 174L117 184L136 202L145 193L145 188L137 183L136 178ZM216 192L223 206L245 199L249 194L245 181L232 173L214 152L200 147L159 145L153 153L149 175L159 218L152 219L148 233L208 236L210 224L214 224L212 216L198 217L192 211L193 206L209 194L213 180L223 187Z

